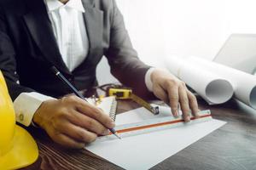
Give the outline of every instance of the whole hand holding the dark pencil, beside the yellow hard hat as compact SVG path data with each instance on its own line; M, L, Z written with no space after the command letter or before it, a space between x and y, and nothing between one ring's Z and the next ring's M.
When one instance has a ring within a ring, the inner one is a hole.
M77 96L44 101L33 122L49 134L56 143L68 148L83 148L97 135L107 135L114 122L102 110Z

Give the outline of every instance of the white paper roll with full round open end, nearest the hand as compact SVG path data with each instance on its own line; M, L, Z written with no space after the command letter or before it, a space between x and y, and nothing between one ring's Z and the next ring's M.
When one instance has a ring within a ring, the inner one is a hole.
M166 66L175 76L193 88L208 104L223 104L234 94L231 83L206 69L191 64L185 59L166 59Z

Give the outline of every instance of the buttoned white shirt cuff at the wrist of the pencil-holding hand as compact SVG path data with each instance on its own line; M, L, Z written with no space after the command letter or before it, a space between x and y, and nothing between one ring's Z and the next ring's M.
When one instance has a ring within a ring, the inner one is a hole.
M21 93L14 101L16 121L28 127L39 106L49 99L54 98L36 92Z

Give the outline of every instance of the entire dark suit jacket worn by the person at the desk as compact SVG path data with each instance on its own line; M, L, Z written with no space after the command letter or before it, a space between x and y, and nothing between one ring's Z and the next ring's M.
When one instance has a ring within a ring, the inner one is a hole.
M49 67L55 65L76 88L96 85L96 65L105 55L114 77L142 96L149 66L137 58L114 0L82 0L89 54L70 72L61 59L44 0L0 0L0 70L15 99L37 91L59 97L71 91ZM17 83L20 81L20 83Z

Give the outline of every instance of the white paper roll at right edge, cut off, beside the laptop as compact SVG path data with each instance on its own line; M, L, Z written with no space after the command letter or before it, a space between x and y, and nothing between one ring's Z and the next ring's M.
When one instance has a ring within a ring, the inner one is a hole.
M256 109L256 77L229 66L221 65L207 59L189 57L187 62L202 69L214 72L229 80L235 90L235 98Z

